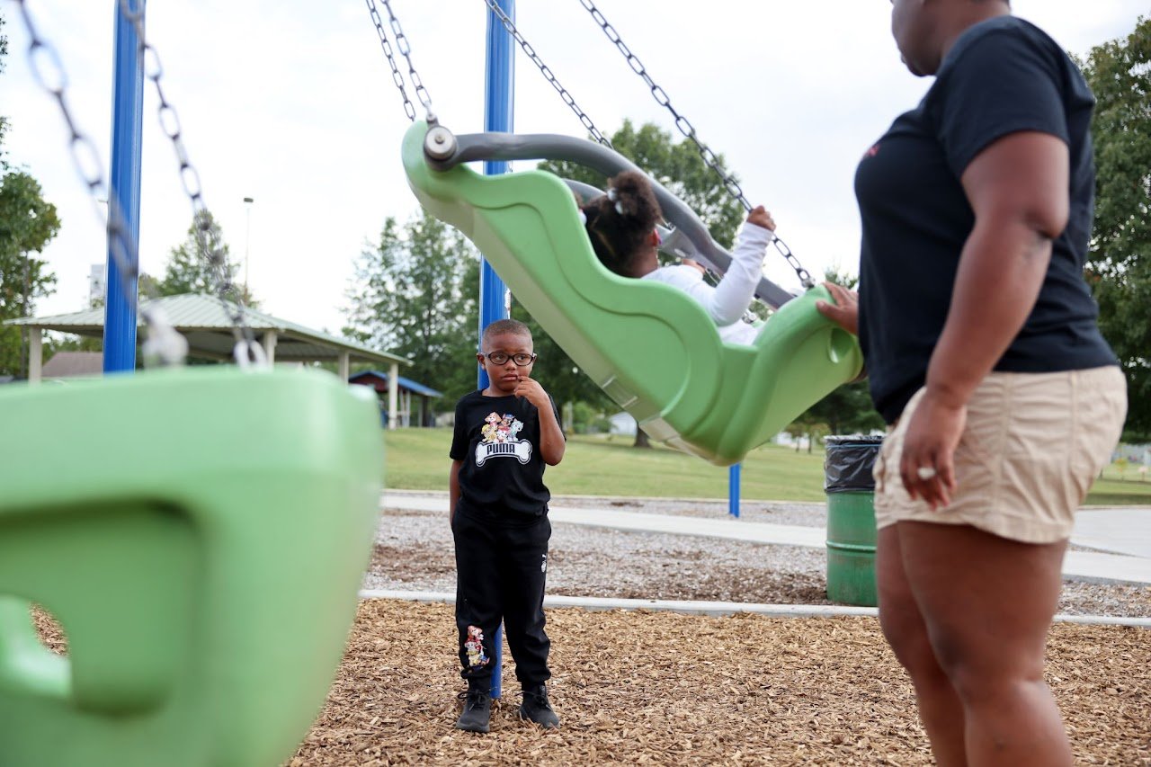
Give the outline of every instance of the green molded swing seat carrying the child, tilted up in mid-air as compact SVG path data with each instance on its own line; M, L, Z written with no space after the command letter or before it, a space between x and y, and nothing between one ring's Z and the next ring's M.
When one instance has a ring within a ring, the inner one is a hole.
M403 145L417 198L475 243L516 298L651 438L732 464L862 369L854 336L815 310L816 299L830 299L824 288L784 304L754 347L724 343L686 294L604 268L559 179L434 170L424 157L426 131L414 123Z

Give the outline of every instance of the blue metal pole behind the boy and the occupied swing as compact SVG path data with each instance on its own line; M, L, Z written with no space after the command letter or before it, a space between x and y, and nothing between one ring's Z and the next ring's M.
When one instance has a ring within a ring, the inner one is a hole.
M516 21L516 0L496 0L500 9L513 23ZM489 8L488 9L488 47L486 56L486 77L483 78L483 129L488 131L511 132L513 130L512 114L514 111L516 91L516 47L511 35L504 29L503 22ZM483 164L483 173L495 176L508 172L505 160L488 160ZM491 268L485 258L480 263L480 328L482 336L483 328L498 319L506 319L508 302L505 296L508 288L503 280ZM488 374L480 369L479 388L488 386ZM503 675L503 631L496 629L496 635L491 640L495 647L495 658L491 662L491 697L498 698L501 693L501 677Z

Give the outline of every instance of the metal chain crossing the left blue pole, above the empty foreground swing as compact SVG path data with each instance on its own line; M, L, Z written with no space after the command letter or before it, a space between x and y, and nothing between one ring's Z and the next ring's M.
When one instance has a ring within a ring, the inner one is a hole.
M176 151L176 160L180 164L180 181L184 187L184 193L188 195L188 199L192 204L192 221L196 225L198 249L201 253L207 255L208 264L213 272L216 295L220 301L226 307L229 304L234 307L228 310L228 316L233 322L233 335L236 339L233 356L236 359L236 364L241 367L264 365L267 363L264 347L256 341L256 335L247 325L247 318L244 316L244 296L236 288L235 283L233 283L231 276L228 274L228 264L224 258L222 244L212 230L212 217L207 205L204 203L200 174L188 158L188 151L184 149L180 116L176 114L175 107L165 98L163 86L160 83L160 79L163 77L163 67L160 63L160 54L144 36L143 7L140 10L132 10L129 0L120 0L120 13L136 30L138 50L144 61L144 76L152 81L152 84L155 86L155 93L160 101L157 115L160 128ZM231 301L228 299L229 294L233 297Z

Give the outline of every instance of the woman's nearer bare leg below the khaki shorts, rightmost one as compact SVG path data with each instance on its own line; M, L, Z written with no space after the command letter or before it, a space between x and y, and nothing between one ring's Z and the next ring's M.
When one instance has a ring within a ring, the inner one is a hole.
M1021 544L966 525L898 527L907 584L963 704L968 764L1070 765L1043 681L1067 541Z

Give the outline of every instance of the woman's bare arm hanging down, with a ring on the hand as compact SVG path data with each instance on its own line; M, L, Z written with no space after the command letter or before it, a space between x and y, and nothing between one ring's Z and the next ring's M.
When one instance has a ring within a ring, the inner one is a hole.
M1035 131L996 141L963 172L975 227L960 255L951 309L900 462L908 493L932 508L946 506L955 488L953 457L967 401L1035 306L1051 241L1067 226L1069 177L1067 145ZM921 468L937 473L924 479Z

